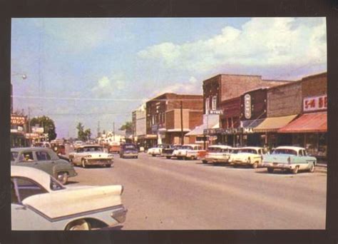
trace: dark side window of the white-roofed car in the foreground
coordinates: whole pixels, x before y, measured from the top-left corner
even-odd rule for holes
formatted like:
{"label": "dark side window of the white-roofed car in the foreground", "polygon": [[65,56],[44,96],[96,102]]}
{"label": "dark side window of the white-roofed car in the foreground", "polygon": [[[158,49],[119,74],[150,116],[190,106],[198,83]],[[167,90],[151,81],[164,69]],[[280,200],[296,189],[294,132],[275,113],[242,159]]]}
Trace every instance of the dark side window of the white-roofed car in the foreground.
{"label": "dark side window of the white-roofed car in the foreground", "polygon": [[19,202],[25,198],[30,197],[31,195],[48,193],[45,188],[28,178],[13,178],[13,182]]}

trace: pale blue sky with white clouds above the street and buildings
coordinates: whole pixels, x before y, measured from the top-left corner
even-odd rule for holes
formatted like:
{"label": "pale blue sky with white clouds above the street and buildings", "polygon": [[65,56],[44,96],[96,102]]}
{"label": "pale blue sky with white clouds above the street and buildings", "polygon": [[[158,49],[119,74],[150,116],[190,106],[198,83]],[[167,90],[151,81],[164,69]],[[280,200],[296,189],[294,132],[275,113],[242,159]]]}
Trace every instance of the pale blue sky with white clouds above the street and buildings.
{"label": "pale blue sky with white clouds above the street and buildings", "polygon": [[[46,115],[58,138],[96,136],[165,92],[202,94],[219,73],[295,81],[327,71],[326,19],[12,19],[14,111]],[[26,79],[22,75],[26,75]]]}

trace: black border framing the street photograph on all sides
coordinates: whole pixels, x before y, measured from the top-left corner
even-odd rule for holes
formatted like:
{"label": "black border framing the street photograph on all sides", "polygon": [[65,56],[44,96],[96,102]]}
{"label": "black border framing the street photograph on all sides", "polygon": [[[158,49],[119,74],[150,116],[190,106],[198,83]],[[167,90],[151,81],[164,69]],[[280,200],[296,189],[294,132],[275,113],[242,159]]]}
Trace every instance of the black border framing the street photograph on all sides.
{"label": "black border framing the street photograph on all sides", "polygon": [[[328,169],[326,230],[11,231],[11,18],[28,17],[327,17]],[[0,243],[338,243],[338,0],[0,0]],[[165,199],[164,199],[165,200]],[[191,210],[191,213],[193,214]],[[221,214],[221,213],[220,213]],[[128,220],[128,216],[127,216]]]}

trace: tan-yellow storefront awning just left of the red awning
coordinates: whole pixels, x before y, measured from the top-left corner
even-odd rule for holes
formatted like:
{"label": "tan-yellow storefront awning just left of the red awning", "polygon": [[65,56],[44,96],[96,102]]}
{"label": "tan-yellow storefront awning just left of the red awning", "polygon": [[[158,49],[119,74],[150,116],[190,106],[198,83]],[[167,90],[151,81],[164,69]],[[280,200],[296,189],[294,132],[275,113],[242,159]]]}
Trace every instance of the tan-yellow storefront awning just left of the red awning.
{"label": "tan-yellow storefront awning just left of the red awning", "polygon": [[253,131],[258,133],[278,131],[280,128],[286,126],[288,123],[293,121],[296,117],[297,114],[291,116],[265,118],[262,123],[253,128]]}

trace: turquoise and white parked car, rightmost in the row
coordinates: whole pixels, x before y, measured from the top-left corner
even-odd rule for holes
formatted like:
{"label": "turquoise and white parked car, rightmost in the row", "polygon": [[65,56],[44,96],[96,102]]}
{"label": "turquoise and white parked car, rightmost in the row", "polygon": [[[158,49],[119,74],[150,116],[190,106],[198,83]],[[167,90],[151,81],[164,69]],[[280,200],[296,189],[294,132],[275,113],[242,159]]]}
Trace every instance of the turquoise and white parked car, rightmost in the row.
{"label": "turquoise and white parked car, rightmost in the row", "polygon": [[273,173],[275,169],[298,173],[298,171],[314,172],[317,158],[307,155],[305,148],[296,146],[279,146],[270,155],[263,156],[263,167]]}

